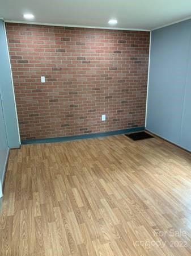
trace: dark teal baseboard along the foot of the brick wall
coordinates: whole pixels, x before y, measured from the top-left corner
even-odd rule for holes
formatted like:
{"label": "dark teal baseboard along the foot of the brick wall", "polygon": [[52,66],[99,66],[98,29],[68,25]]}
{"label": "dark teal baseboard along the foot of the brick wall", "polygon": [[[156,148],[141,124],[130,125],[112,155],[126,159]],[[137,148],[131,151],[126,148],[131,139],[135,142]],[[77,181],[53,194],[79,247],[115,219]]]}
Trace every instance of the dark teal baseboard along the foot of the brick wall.
{"label": "dark teal baseboard along the foot of the brick wall", "polygon": [[124,129],[124,130],[117,130],[117,131],[105,131],[104,133],[91,133],[91,134],[45,138],[45,139],[27,139],[25,141],[21,141],[21,143],[22,144],[37,144],[37,143],[78,141],[79,139],[92,139],[92,138],[99,138],[99,137],[107,137],[107,136],[111,136],[111,135],[134,133],[135,131],[143,131],[143,130],[145,130],[145,126],[134,127],[134,128]]}

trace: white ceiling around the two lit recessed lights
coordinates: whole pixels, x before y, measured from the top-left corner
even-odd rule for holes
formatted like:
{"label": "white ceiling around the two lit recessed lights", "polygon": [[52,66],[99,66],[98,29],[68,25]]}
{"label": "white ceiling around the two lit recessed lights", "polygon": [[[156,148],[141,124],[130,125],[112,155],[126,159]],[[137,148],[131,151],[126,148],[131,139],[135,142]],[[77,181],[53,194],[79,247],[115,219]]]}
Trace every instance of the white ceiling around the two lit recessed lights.
{"label": "white ceiling around the two lit recessed lights", "polygon": [[[0,17],[35,23],[151,30],[191,16],[190,0],[0,0]],[[31,21],[31,20],[30,20]]]}

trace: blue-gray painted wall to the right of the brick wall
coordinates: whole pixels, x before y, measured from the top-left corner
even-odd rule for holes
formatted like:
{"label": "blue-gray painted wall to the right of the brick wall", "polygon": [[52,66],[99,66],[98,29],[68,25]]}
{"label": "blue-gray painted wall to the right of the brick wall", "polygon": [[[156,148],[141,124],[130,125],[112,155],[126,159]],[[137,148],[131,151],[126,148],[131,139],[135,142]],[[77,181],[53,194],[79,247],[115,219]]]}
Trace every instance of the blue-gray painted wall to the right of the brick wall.
{"label": "blue-gray painted wall to the right of the brick wall", "polygon": [[191,20],[152,31],[146,129],[191,151]]}

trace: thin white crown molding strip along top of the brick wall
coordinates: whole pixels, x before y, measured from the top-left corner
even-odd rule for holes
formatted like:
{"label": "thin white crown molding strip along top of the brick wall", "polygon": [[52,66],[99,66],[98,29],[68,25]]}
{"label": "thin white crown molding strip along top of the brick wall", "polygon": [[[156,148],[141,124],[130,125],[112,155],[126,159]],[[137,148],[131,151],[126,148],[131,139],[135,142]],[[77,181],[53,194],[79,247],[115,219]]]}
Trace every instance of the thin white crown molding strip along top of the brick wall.
{"label": "thin white crown molding strip along top of the brick wall", "polygon": [[28,22],[28,21],[9,20],[9,19],[5,19],[4,21],[5,22],[9,22],[9,23],[33,24],[33,25],[56,26],[56,27],[98,28],[98,29],[102,29],[102,30],[151,31],[151,30],[144,30],[142,28],[79,26],[79,25],[70,25],[70,24],[58,24],[58,23],[54,24],[54,23],[43,23],[43,22]]}

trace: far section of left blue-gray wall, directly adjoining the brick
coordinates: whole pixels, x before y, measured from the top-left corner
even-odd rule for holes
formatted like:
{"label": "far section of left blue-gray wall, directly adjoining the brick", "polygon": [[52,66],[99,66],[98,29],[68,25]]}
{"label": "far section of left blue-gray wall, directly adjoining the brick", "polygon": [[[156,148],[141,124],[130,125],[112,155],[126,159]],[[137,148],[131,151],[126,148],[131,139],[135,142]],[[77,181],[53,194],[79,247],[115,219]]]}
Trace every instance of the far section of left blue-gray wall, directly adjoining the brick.
{"label": "far section of left blue-gray wall, directly adjoining the brick", "polygon": [[7,48],[7,39],[3,20],[0,20],[0,51],[0,92],[5,117],[7,141],[10,148],[18,148],[20,146],[18,119],[12,84],[9,51]]}

